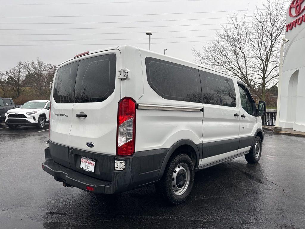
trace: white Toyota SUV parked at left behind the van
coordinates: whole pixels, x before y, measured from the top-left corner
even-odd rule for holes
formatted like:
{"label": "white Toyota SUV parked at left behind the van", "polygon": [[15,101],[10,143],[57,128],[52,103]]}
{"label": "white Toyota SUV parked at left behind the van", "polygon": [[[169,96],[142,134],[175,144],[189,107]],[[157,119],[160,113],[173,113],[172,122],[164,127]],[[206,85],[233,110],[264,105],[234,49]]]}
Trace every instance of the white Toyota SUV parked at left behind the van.
{"label": "white Toyota SUV parked at left behind the van", "polygon": [[21,105],[19,108],[11,109],[5,114],[5,124],[11,129],[19,125],[35,125],[43,129],[45,123],[49,122],[49,100],[32,100]]}

